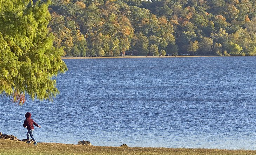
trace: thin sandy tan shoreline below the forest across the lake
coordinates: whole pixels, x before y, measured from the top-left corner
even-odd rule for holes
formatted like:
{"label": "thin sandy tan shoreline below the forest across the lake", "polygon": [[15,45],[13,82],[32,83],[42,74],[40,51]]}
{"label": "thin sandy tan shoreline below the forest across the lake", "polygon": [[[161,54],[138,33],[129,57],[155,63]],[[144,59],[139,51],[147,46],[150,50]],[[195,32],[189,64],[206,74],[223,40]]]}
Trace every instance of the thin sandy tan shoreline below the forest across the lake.
{"label": "thin sandy tan shoreline below the forest across the lake", "polygon": [[94,57],[61,57],[61,59],[120,59],[120,58],[193,58],[193,57],[219,57],[201,55],[177,55],[175,56],[94,56]]}

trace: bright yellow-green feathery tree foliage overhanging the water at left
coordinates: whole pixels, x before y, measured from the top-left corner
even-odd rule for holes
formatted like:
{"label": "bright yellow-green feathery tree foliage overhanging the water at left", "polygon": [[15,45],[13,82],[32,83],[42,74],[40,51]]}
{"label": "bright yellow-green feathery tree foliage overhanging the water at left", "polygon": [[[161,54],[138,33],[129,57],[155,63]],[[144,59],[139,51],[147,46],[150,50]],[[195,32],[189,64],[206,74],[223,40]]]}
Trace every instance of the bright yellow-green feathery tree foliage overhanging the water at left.
{"label": "bright yellow-green feathery tree foliage overhanging the water at left", "polygon": [[52,77],[67,70],[63,49],[53,47],[48,33],[50,1],[0,0],[0,94],[20,104],[52,100],[59,93]]}

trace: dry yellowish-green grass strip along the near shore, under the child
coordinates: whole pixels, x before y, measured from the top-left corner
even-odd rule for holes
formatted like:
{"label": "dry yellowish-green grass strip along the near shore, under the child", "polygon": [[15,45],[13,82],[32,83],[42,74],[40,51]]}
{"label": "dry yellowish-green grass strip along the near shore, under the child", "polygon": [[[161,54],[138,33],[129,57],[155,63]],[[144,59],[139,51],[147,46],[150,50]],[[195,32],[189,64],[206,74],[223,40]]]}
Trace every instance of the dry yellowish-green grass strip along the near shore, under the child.
{"label": "dry yellowish-green grass strip along the near shore, under the child", "polygon": [[78,146],[61,143],[38,143],[0,140],[0,155],[255,155],[253,150],[141,148]]}

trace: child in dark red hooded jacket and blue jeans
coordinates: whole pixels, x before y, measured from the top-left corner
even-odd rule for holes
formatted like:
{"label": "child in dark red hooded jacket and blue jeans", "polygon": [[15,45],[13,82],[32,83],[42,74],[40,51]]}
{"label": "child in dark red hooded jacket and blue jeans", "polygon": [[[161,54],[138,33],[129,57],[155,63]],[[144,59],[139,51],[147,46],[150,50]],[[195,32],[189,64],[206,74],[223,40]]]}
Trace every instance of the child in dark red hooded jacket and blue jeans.
{"label": "child in dark red hooded jacket and blue jeans", "polygon": [[27,128],[28,129],[28,132],[27,132],[27,143],[31,143],[30,142],[30,139],[29,139],[29,135],[31,136],[31,139],[34,141],[34,145],[36,145],[37,143],[36,143],[36,141],[35,141],[35,139],[34,139],[34,137],[33,137],[33,131],[34,131],[34,126],[33,126],[33,124],[35,125],[35,126],[37,126],[37,127],[39,127],[39,128],[41,128],[41,126],[39,126],[36,122],[34,122],[32,119],[31,119],[31,113],[26,113],[25,114],[25,117],[26,117],[26,120],[24,121],[24,123],[23,123],[23,127],[24,128]]}

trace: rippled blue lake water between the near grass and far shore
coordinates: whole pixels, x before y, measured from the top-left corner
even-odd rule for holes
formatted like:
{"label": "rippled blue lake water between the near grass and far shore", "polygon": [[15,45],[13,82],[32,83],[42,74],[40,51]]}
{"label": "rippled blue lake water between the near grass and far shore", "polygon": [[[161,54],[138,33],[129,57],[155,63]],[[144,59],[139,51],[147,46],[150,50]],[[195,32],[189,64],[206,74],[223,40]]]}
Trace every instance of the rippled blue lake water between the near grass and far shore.
{"label": "rippled blue lake water between the near grass and far shore", "polygon": [[0,97],[0,132],[95,146],[256,150],[256,57],[64,60],[53,102]]}

